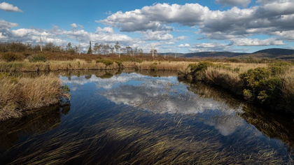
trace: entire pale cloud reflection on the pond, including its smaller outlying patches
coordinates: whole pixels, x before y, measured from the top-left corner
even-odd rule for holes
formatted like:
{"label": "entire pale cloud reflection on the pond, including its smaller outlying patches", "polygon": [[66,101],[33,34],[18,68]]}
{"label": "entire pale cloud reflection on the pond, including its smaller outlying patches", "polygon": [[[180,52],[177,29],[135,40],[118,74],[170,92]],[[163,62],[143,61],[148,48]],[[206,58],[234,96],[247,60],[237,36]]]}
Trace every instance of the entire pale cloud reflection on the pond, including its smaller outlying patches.
{"label": "entire pale cloud reflection on the pond, including its smaller outlying patches", "polygon": [[[136,81],[137,83],[133,83]],[[153,113],[181,113],[181,114],[207,114],[204,124],[215,127],[223,136],[234,133],[244,125],[244,120],[237,117],[242,106],[233,109],[222,101],[204,99],[188,91],[187,86],[179,83],[176,77],[153,78],[137,73],[123,73],[111,78],[90,79],[73,76],[65,80],[71,84],[73,90],[78,85],[94,82],[99,92],[106,99],[116,104],[125,104]]]}

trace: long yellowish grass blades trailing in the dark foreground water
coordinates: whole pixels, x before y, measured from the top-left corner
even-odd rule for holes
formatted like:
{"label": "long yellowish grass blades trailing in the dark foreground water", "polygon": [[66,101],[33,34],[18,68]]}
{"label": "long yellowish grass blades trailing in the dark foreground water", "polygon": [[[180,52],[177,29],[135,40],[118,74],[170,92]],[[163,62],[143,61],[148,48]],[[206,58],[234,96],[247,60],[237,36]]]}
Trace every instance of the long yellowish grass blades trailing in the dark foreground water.
{"label": "long yellowish grass blades trailing in the dark foreground water", "polygon": [[[283,164],[293,162],[279,157],[270,148],[252,146],[251,140],[240,137],[237,145],[226,146],[220,134],[204,127],[188,124],[193,116],[155,117],[142,112],[125,112],[113,117],[102,111],[99,122],[84,125],[80,131],[61,129],[46,136],[33,136],[29,141],[6,152],[25,148],[10,164]],[[102,117],[103,118],[100,118]],[[91,117],[96,118],[94,115]],[[194,116],[195,117],[195,116]],[[89,119],[87,119],[89,120]],[[152,122],[146,122],[152,121]],[[181,122],[183,124],[179,124]],[[74,120],[68,121],[73,124]],[[85,134],[87,132],[87,134]],[[197,134],[193,134],[197,132]],[[251,136],[253,136],[251,134]],[[36,138],[36,139],[35,139]],[[62,139],[62,140],[60,140]],[[73,141],[74,139],[74,141]],[[265,145],[260,143],[260,145]],[[13,153],[13,152],[12,152]]]}

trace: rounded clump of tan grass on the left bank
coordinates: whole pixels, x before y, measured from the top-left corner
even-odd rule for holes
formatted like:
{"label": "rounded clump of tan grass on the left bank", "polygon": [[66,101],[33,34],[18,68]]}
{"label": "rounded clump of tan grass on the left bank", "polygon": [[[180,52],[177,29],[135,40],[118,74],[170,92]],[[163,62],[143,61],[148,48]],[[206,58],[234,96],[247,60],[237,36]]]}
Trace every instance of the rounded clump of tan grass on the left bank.
{"label": "rounded clump of tan grass on the left bank", "polygon": [[61,96],[69,95],[56,76],[21,78],[0,73],[0,121],[59,103]]}

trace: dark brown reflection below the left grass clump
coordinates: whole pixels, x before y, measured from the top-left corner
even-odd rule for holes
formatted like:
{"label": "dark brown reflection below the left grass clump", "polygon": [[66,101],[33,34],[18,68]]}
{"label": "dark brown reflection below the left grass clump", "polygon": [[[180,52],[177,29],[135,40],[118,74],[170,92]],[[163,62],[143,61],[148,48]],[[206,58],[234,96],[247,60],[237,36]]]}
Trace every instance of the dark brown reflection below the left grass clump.
{"label": "dark brown reflection below the left grass clump", "polygon": [[31,111],[20,118],[0,122],[0,148],[8,149],[22,136],[41,134],[55,129],[62,114],[69,113],[70,104],[55,105]]}

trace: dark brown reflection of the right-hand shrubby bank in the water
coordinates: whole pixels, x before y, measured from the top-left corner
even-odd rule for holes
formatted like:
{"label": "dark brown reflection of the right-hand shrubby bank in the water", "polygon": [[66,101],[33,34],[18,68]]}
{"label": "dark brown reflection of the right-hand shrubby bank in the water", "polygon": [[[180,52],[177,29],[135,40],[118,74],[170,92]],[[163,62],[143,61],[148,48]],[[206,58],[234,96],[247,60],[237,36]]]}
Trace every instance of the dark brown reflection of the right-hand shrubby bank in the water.
{"label": "dark brown reflection of the right-hand shrubby bank in the water", "polygon": [[[231,108],[237,109],[242,101],[233,98],[230,94],[225,93],[215,87],[205,85],[203,83],[191,84],[188,89],[195,94],[204,98],[213,98],[216,101],[223,101]],[[293,119],[281,117],[276,114],[267,112],[260,108],[255,108],[251,105],[243,106],[241,112],[237,112],[239,117],[242,117],[246,122],[252,124],[262,134],[269,138],[276,138],[286,143],[288,150],[294,154],[294,122]],[[218,117],[214,122],[224,122],[225,117]],[[230,120],[233,122],[233,120]],[[214,122],[210,123],[214,125]],[[239,122],[238,122],[239,123]],[[233,123],[231,123],[233,124]],[[223,124],[221,124],[223,125]],[[228,125],[228,124],[225,124]],[[229,126],[230,127],[230,126]],[[218,128],[216,128],[218,129]],[[222,130],[222,127],[219,128]],[[227,129],[223,131],[228,131]]]}

